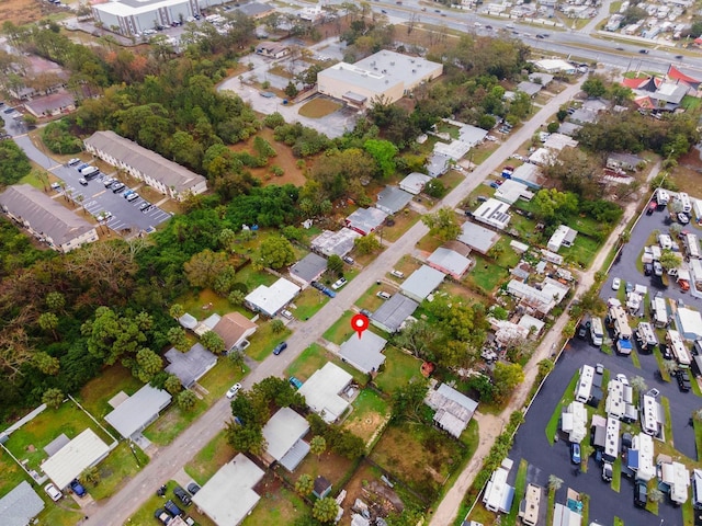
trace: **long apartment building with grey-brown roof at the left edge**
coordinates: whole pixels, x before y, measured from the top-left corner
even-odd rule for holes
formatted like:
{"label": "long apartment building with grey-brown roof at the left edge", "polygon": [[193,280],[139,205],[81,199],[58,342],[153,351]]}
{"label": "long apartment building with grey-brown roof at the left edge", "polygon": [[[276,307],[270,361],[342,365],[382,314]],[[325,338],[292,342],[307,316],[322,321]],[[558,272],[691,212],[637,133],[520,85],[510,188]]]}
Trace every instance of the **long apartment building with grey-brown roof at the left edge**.
{"label": "long apartment building with grey-brown roof at the left edge", "polygon": [[0,194],[0,209],[58,252],[98,241],[94,225],[29,184],[9,186]]}

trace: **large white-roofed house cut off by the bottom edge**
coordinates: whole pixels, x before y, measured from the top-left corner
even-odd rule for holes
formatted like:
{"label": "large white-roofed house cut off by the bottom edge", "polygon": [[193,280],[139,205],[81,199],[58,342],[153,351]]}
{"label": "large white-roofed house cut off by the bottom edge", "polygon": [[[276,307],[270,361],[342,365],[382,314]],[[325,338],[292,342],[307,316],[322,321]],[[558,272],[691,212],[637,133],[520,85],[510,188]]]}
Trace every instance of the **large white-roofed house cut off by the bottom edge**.
{"label": "large white-roofed house cut off by the bottom edge", "polygon": [[261,499],[253,488],[263,474],[261,468],[239,453],[193,495],[193,502],[217,526],[238,526]]}

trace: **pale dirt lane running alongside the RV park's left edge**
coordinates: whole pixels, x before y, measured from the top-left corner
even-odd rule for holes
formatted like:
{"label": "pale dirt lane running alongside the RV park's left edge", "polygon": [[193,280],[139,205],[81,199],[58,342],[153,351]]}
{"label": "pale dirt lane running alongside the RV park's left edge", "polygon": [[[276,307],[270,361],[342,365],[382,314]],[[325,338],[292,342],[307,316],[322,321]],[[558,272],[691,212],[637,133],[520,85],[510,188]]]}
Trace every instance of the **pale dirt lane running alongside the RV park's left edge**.
{"label": "pale dirt lane running alongside the RV park's left edge", "polygon": [[[650,181],[653,178],[655,178],[659,171],[660,163],[657,163],[652,169],[648,180]],[[644,185],[642,192],[647,193],[648,186]],[[620,235],[626,228],[629,221],[636,214],[638,201],[639,199],[633,199],[629,205],[626,205],[626,207],[624,208],[624,215],[622,216],[622,219],[620,221],[620,226],[612,231],[609,239],[592,262],[592,265],[590,265],[590,270],[580,274],[580,278],[578,279],[578,287],[576,288],[574,297],[579,297],[593,285],[595,274],[600,268],[602,268],[604,260],[609,255],[614,244],[618,242]],[[431,522],[429,523],[430,526],[445,526],[453,523],[456,513],[458,512],[458,507],[461,505],[463,496],[471,488],[471,484],[473,484],[473,480],[483,467],[483,461],[490,453],[490,447],[492,447],[495,437],[502,432],[502,425],[507,425],[510,414],[513,411],[523,408],[524,403],[526,403],[526,397],[529,396],[531,386],[534,384],[536,375],[539,373],[539,362],[552,356],[554,353],[561,350],[561,341],[563,339],[561,334],[563,328],[569,319],[570,317],[568,315],[568,311],[566,310],[561,316],[561,318],[556,320],[551,331],[544,336],[541,345],[536,348],[534,355],[524,367],[524,381],[517,388],[517,391],[512,396],[510,403],[507,405],[507,408],[505,408],[500,415],[494,416],[489,414],[478,414],[477,421],[480,437],[478,447],[471,458],[468,465],[465,467],[461,476],[456,479],[456,482],[446,492],[443,501],[437,507]],[[498,427],[499,431],[497,431]]]}

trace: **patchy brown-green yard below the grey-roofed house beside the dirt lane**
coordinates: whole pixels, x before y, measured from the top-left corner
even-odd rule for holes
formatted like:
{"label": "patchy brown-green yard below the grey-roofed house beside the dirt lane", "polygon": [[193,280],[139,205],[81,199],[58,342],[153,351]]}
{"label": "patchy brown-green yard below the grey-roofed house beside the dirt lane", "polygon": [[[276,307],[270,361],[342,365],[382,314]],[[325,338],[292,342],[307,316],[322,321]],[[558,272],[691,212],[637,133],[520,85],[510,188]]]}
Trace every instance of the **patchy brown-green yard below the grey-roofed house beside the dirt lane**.
{"label": "patchy brown-green yard below the grey-roofed house beside the dirt lane", "polygon": [[385,430],[371,459],[431,502],[465,453],[433,426],[403,423]]}

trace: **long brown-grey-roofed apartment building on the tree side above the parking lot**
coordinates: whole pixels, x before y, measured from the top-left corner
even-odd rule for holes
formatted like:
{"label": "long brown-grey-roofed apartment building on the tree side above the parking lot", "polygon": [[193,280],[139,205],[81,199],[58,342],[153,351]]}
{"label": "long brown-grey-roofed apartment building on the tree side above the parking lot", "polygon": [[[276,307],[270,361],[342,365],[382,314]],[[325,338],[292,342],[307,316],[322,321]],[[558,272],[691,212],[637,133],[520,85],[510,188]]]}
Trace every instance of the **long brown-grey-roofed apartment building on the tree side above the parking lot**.
{"label": "long brown-grey-roofed apartment building on the tree side above the parking lot", "polygon": [[174,199],[183,201],[207,190],[207,180],[202,175],[114,132],[95,132],[84,140],[84,145],[93,156]]}

